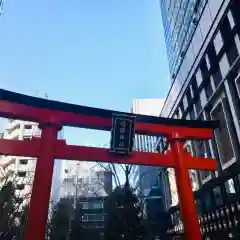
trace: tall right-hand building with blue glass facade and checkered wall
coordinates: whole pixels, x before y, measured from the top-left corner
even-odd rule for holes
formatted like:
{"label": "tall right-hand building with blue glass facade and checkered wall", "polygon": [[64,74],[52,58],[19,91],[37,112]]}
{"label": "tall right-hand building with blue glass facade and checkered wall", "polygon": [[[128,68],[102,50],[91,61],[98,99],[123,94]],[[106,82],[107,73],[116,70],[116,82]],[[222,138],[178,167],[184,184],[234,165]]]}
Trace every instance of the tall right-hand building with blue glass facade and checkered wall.
{"label": "tall right-hand building with blue glass facade and checkered wall", "polygon": [[234,193],[240,172],[240,1],[160,4],[172,76],[161,116],[220,120],[213,140],[186,142],[192,155],[214,157],[218,163],[216,172],[195,172],[193,187],[197,191],[221,177],[225,191]]}

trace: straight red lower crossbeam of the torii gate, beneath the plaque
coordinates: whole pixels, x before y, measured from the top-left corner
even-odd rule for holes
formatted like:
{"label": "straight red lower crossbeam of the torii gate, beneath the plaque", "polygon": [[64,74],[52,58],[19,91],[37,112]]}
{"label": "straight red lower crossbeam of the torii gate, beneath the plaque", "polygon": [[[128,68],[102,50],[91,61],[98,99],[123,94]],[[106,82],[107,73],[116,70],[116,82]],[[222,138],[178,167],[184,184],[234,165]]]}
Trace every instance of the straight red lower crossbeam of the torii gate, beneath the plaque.
{"label": "straight red lower crossbeam of the torii gate, beneath the plaque", "polygon": [[[41,139],[28,141],[0,139],[0,154],[14,156],[38,157]],[[128,163],[137,165],[174,167],[175,162],[171,151],[167,154],[150,152],[133,152],[129,157],[109,153],[106,148],[83,147],[66,145],[64,140],[55,140],[55,159],[79,161],[101,161]],[[189,169],[216,170],[216,161],[210,158],[192,157],[186,153],[186,164]]]}

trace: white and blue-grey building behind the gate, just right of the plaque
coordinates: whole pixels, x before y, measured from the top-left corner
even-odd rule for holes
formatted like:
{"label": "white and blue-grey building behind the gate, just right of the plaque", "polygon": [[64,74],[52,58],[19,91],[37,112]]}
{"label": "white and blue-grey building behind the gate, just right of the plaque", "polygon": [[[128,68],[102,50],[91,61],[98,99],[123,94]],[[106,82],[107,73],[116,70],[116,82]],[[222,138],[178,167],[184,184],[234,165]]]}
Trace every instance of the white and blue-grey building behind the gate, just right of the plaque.
{"label": "white and blue-grey building behind the gate, just right of the plaque", "polygon": [[[150,116],[159,116],[163,99],[134,99],[131,112],[134,114],[143,114]],[[135,150],[143,152],[155,152],[157,138],[155,136],[136,135]],[[137,188],[139,196],[147,196],[151,187],[158,180],[159,167],[152,166],[134,166],[132,169],[132,182]]]}

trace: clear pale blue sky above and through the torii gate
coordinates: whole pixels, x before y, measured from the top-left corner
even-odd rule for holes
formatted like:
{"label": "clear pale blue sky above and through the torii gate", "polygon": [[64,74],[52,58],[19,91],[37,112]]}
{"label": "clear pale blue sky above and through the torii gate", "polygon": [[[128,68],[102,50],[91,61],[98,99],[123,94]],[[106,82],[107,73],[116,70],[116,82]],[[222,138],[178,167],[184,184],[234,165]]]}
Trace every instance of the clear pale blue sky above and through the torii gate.
{"label": "clear pale blue sky above and through the torii gate", "polygon": [[[0,17],[0,86],[128,111],[170,87],[159,0],[11,0]],[[106,134],[65,129],[73,144]],[[101,135],[101,136],[100,136]]]}

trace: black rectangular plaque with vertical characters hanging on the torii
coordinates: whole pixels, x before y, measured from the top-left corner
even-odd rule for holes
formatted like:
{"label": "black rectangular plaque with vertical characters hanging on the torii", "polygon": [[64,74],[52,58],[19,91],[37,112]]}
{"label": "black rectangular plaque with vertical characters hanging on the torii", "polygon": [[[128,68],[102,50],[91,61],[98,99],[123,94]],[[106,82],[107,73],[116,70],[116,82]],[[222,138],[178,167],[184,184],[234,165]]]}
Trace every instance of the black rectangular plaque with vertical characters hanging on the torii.
{"label": "black rectangular plaque with vertical characters hanging on the torii", "polygon": [[135,135],[135,116],[113,114],[110,151],[120,155],[132,152]]}

